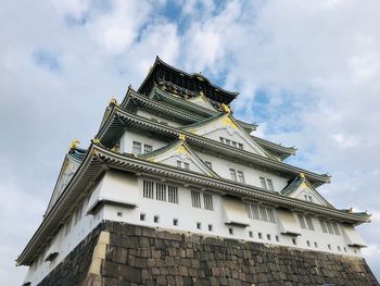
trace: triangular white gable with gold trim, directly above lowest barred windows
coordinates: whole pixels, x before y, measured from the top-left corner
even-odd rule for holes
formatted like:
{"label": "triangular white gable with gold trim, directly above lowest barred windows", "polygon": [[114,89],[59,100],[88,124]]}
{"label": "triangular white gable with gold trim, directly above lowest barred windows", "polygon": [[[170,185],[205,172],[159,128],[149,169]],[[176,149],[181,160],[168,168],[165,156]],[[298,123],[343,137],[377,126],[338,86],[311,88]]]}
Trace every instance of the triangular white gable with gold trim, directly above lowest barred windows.
{"label": "triangular white gable with gold trim, directly above lowest barred windows", "polygon": [[139,156],[139,158],[201,173],[206,176],[219,177],[186,145],[183,135],[180,135],[178,141],[148,154]]}

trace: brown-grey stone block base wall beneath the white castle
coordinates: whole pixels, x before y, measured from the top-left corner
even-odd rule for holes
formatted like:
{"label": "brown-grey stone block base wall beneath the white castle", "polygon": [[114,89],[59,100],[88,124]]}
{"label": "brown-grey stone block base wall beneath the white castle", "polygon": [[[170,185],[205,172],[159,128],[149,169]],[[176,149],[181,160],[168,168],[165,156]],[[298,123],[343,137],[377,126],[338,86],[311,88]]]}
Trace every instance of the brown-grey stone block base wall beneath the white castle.
{"label": "brown-grey stone block base wall beneath the white castle", "polygon": [[359,258],[116,222],[100,224],[40,285],[379,285]]}

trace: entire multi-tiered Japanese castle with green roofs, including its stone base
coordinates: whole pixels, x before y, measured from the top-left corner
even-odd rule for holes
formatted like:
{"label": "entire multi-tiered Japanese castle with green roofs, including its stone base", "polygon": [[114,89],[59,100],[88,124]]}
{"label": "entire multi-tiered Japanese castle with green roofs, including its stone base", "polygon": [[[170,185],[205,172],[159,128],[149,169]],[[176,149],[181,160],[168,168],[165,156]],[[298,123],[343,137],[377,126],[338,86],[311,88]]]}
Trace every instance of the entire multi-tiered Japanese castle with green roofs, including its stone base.
{"label": "entire multi-tiered Japanese castle with green roofs, including its stone base", "polygon": [[330,176],[288,164],[296,149],[255,136],[237,96],[156,58],[71,145],[24,285],[378,285],[370,214],[324,198]]}

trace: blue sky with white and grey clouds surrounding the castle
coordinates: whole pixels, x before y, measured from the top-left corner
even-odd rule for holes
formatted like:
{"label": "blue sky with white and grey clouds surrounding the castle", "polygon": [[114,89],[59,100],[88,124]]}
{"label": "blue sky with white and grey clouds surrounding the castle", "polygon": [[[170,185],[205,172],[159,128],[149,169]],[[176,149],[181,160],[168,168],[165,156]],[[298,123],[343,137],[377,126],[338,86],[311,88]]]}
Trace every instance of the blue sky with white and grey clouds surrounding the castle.
{"label": "blue sky with white and grey clouds surrounding the castle", "polygon": [[111,97],[155,55],[238,90],[235,115],[299,149],[288,160],[332,183],[380,277],[380,2],[61,0],[0,3],[0,285],[41,222],[71,141],[87,147]]}

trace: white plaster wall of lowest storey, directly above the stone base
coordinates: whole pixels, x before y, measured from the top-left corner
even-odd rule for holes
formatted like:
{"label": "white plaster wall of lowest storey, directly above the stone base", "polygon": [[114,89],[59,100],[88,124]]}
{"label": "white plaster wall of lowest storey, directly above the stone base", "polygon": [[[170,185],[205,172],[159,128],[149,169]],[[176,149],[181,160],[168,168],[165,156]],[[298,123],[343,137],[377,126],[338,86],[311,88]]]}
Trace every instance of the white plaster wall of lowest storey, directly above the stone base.
{"label": "white plaster wall of lowest storey, directly above the stone base", "polygon": [[[165,183],[177,186],[178,203],[159,201],[155,199],[155,194],[154,199],[143,198],[143,179],[151,179],[156,183]],[[202,209],[193,208],[191,203],[191,190],[198,190],[201,191],[201,194],[211,194],[213,198],[213,210],[205,210],[203,204]],[[114,198],[114,201],[111,204],[105,203],[101,208],[98,208],[94,214],[86,214],[86,210],[89,209],[91,202],[97,198],[103,199],[104,195],[110,198]],[[121,200],[119,206],[114,204],[117,198]],[[128,200],[128,198],[134,198],[132,201],[137,206],[131,207],[130,204],[125,204],[125,201]],[[249,222],[246,227],[226,225],[226,211],[230,212],[231,210],[228,210],[228,207],[226,207],[226,204],[223,202],[223,197],[218,192],[185,187],[182,184],[175,182],[163,182],[143,176],[136,177],[136,175],[130,173],[107,172],[94,187],[91,198],[86,199],[86,201],[84,201],[81,204],[81,216],[79,217],[78,222],[75,224],[75,219],[73,217],[69,220],[69,222],[67,222],[71,224],[71,231],[67,235],[65,235],[67,223],[61,228],[50,247],[29,268],[25,282],[31,282],[31,285],[36,285],[38,282],[40,282],[102,220],[180,232],[191,232],[205,236],[228,237],[263,244],[290,246],[307,250],[328,251],[331,253],[346,256],[360,256],[359,249],[347,246],[342,227],[339,226],[341,231],[341,235],[339,236],[324,234],[316,217],[313,217],[315,231],[300,228],[301,236],[296,238],[296,245],[294,245],[291,236],[280,234],[278,222],[279,219],[276,215],[276,223],[249,219],[246,212],[241,211],[240,214],[238,214],[241,215],[241,217],[236,219],[238,221]],[[242,202],[241,209],[243,209]],[[145,215],[144,221],[140,220],[140,214]],[[156,223],[153,220],[155,215],[159,215],[159,222]],[[237,215],[237,213],[235,213],[235,215]],[[174,219],[178,220],[177,226],[173,224]],[[201,229],[197,227],[198,223],[201,223]],[[208,225],[212,225],[212,231],[208,231]],[[229,228],[232,228],[232,234],[229,233]],[[252,237],[250,236],[250,232],[253,234]],[[259,234],[262,234],[262,238],[259,238]],[[270,235],[270,239],[268,238],[268,235]],[[276,240],[276,236],[278,237],[278,241]],[[307,246],[307,240],[311,241],[311,246]],[[317,243],[318,247],[314,246],[315,243]],[[328,249],[328,244],[331,245],[331,250]],[[341,247],[341,251],[338,250],[338,246]],[[346,251],[344,251],[344,248]],[[55,258],[55,260],[52,262],[45,262],[45,258],[51,252],[59,252],[58,258]]]}

